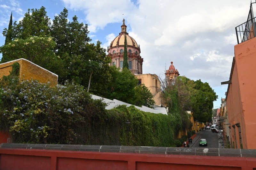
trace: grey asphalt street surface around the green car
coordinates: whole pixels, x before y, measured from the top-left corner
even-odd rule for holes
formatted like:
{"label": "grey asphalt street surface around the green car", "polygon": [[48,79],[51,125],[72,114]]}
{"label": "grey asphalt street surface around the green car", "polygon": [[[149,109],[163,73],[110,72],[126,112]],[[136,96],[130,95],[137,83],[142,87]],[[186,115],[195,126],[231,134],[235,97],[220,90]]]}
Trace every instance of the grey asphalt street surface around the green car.
{"label": "grey asphalt street surface around the green car", "polygon": [[[200,139],[206,139],[207,146],[199,146]],[[191,148],[219,148],[218,133],[212,133],[209,129],[198,132],[192,142],[193,144],[190,144]]]}

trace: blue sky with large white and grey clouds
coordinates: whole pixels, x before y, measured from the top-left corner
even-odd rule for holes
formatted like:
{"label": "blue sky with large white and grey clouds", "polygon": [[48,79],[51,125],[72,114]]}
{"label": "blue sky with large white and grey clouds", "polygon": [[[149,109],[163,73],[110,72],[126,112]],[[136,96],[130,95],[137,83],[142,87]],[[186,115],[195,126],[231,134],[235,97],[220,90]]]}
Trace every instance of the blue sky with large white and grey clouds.
{"label": "blue sky with large white and grey clouds", "polygon": [[[254,1],[254,0],[252,0]],[[164,77],[173,62],[180,76],[207,82],[218,95],[220,107],[230,76],[235,27],[246,22],[250,0],[0,0],[0,32],[12,20],[20,21],[28,9],[45,7],[49,18],[68,9],[68,19],[88,24],[92,42],[107,48],[121,32],[140,44],[143,74]],[[0,35],[0,46],[5,37]],[[1,58],[2,54],[0,54]]]}

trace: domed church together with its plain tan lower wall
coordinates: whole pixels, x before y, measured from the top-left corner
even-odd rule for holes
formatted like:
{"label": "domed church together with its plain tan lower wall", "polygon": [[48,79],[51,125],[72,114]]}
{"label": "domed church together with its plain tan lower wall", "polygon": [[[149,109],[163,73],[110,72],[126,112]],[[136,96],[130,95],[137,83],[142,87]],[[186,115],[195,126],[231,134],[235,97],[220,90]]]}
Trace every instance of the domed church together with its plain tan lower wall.
{"label": "domed church together with its plain tan lower wall", "polygon": [[[110,43],[108,47],[108,56],[111,57],[111,66],[123,68],[124,61],[124,37],[126,36],[127,58],[129,70],[139,80],[139,85],[144,84],[154,96],[155,109],[156,107],[163,106],[164,102],[161,98],[161,85],[160,80],[156,74],[142,74],[143,58],[140,56],[140,45],[129,36],[126,32],[126,25],[123,19],[123,25],[121,26],[121,33]],[[162,108],[159,108],[162,109]],[[165,111],[167,114],[167,112]]]}

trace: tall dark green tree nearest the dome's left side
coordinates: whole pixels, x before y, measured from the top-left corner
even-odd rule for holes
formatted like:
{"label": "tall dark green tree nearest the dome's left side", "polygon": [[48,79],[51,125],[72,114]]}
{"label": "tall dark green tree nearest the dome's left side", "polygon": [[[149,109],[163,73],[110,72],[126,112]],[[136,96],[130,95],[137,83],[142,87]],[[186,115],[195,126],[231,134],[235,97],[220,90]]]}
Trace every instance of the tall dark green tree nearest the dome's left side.
{"label": "tall dark green tree nearest the dome's left side", "polygon": [[[107,57],[106,50],[100,47],[100,41],[96,44],[90,43],[87,24],[79,23],[76,16],[72,18],[72,22],[68,22],[67,17],[68,10],[64,8],[58,16],[54,17],[51,26],[51,35],[57,43],[54,50],[64,63],[59,82],[64,83],[65,80],[69,80],[84,85],[88,90],[90,87],[90,91],[94,93],[97,93],[99,86],[106,90],[106,81],[102,79],[99,81],[102,76],[100,74],[109,70],[110,58]],[[108,80],[107,76],[110,75],[104,76]]]}

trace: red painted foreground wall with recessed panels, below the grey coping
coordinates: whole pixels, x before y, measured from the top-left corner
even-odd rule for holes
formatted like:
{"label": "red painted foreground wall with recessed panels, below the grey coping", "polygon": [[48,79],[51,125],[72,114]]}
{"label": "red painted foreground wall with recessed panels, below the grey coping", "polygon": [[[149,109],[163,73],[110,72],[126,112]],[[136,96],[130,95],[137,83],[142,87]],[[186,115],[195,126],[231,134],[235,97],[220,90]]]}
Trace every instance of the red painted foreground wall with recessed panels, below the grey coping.
{"label": "red painted foreground wall with recessed panels, below the grey coping", "polygon": [[156,170],[253,169],[256,158],[195,155],[0,149],[0,169]]}

